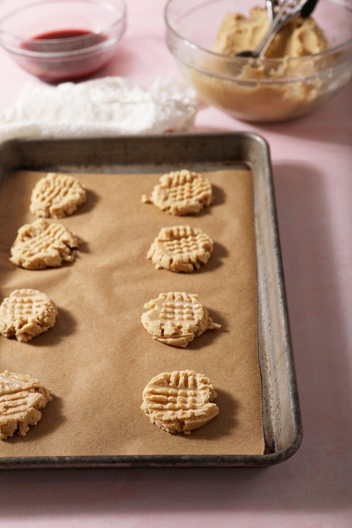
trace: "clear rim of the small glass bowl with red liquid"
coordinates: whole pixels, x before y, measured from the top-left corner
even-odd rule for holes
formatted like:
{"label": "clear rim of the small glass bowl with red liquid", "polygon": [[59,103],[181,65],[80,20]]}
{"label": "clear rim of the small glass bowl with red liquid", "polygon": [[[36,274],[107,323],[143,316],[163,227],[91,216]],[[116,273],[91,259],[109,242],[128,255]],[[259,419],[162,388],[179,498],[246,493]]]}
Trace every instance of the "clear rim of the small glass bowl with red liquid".
{"label": "clear rim of the small glass bowl with red liquid", "polygon": [[[95,5],[97,5],[98,7],[102,8],[104,10],[104,6],[107,6],[107,5],[110,5],[110,6],[113,6],[113,4],[110,3],[110,1],[104,1],[103,3],[99,2],[99,0],[89,0],[87,2],[87,0],[79,0],[80,3],[82,4],[87,4],[87,3],[93,3]],[[125,30],[125,27],[126,27],[126,15],[127,15],[127,7],[126,7],[126,3],[124,0],[113,0],[114,2],[118,2],[119,3],[119,7],[121,8],[121,14],[117,17],[117,19],[112,22],[110,25],[106,26],[106,27],[103,27],[99,32],[95,32],[95,34],[99,35],[99,34],[106,34],[108,32],[110,32],[111,30],[113,30],[115,27],[118,27],[118,26],[121,26],[122,24],[122,31]],[[53,3],[55,2],[58,2],[58,3],[70,3],[70,0],[54,0]],[[37,6],[37,5],[40,5],[40,4],[44,4],[46,3],[45,0],[36,0],[35,2],[32,2],[30,4],[28,4],[27,6],[21,8],[21,7],[17,7],[16,9],[10,11],[9,13],[7,13],[5,16],[3,16],[1,19],[0,19],[0,43],[2,44],[3,48],[6,49],[7,51],[11,52],[11,53],[16,53],[16,54],[19,54],[19,55],[27,55],[27,56],[32,56],[32,57],[52,57],[52,58],[56,58],[56,57],[69,57],[70,55],[79,55],[79,54],[85,54],[85,53],[90,53],[90,52],[93,52],[94,50],[101,50],[103,48],[108,48],[110,45],[118,42],[118,40],[120,39],[117,39],[116,37],[113,37],[112,39],[109,39],[107,41],[103,41],[103,42],[100,42],[99,44],[95,44],[93,46],[90,46],[89,48],[83,48],[83,49],[77,49],[77,50],[73,50],[73,51],[62,51],[62,52],[43,52],[43,51],[31,51],[31,50],[25,50],[25,49],[18,49],[18,48],[14,48],[13,46],[9,46],[8,44],[5,44],[4,41],[3,41],[3,38],[6,37],[8,38],[11,38],[12,40],[14,41],[17,41],[18,43],[26,43],[26,42],[31,42],[31,39],[23,39],[23,37],[21,36],[18,36],[18,35],[14,35],[12,33],[9,33],[8,31],[4,31],[1,29],[1,25],[2,23],[9,17],[13,16],[14,14],[18,13],[19,11],[25,11],[27,8],[30,8],[30,7],[33,7],[33,6]],[[117,6],[113,6],[113,7],[117,7]],[[93,33],[93,32],[92,32]],[[93,33],[94,34],[94,33]],[[84,41],[84,40],[87,40],[89,39],[90,37],[92,36],[92,34],[87,34],[87,35],[77,35],[77,36],[72,36],[72,37],[64,37],[63,39],[40,39],[38,41],[39,45],[40,44],[44,44],[44,45],[47,45],[47,44],[55,44],[55,43],[58,43],[58,42],[81,42],[81,41]],[[119,35],[120,37],[122,36],[121,34]]]}

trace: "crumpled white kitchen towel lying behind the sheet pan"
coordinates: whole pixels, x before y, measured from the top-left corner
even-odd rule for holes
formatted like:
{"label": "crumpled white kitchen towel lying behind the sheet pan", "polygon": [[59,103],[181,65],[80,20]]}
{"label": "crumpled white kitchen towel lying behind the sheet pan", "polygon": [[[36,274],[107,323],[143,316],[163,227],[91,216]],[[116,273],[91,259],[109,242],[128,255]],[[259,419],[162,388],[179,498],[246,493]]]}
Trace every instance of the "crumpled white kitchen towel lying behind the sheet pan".
{"label": "crumpled white kitchen towel lying behind the sheet pan", "polygon": [[194,90],[170,77],[157,77],[149,90],[122,77],[28,84],[0,113],[0,142],[186,131],[196,111]]}

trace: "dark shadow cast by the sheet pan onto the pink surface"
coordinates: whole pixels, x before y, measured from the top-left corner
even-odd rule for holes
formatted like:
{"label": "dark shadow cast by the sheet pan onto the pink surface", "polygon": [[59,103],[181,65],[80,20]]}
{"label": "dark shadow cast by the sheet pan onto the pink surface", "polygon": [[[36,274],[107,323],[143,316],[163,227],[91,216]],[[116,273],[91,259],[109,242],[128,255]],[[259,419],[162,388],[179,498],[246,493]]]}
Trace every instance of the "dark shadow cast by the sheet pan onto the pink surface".
{"label": "dark shadow cast by the sheet pan onto the pink surface", "polygon": [[144,516],[156,513],[338,512],[350,506],[350,319],[341,308],[329,197],[324,178],[305,163],[276,164],[274,175],[304,429],[297,454],[267,469],[6,472],[0,474],[6,482],[0,511],[12,520],[12,506],[18,519],[133,514],[143,526]]}

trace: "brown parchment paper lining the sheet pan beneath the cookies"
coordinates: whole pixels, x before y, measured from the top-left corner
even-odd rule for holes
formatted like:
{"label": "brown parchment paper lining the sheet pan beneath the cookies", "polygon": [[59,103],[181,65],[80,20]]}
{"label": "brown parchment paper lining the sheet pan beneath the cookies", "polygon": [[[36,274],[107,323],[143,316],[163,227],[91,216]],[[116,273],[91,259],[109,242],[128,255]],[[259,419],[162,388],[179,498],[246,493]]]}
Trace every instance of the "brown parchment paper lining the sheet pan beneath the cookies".
{"label": "brown parchment paper lining the sheet pan beneath the cookies", "polygon": [[[207,173],[214,205],[186,218],[140,203],[158,175],[80,173],[87,203],[60,220],[84,240],[77,261],[29,271],[8,261],[9,248],[18,227],[34,220],[28,205],[41,176],[12,173],[0,192],[0,293],[40,289],[59,316],[30,344],[1,338],[0,367],[39,378],[54,398],[26,437],[1,442],[1,456],[262,454],[251,173]],[[145,258],[159,229],[178,223],[215,242],[193,274],[155,270]],[[185,350],[151,340],[140,323],[143,304],[169,290],[198,293],[222,329]],[[220,413],[191,435],[161,431],[139,409],[146,383],[176,369],[206,374],[218,392]]]}

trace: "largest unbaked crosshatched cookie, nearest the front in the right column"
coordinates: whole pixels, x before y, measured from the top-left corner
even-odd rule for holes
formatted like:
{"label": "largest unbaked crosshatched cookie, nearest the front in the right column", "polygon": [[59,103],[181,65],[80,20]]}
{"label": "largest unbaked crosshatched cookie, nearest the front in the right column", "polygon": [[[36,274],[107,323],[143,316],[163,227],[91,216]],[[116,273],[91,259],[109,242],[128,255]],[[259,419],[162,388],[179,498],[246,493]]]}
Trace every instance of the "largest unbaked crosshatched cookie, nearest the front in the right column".
{"label": "largest unbaked crosshatched cookie, nearest the front in the right column", "polygon": [[203,374],[163,372],[144,389],[141,409],[164,431],[187,435],[218,414],[216,403],[211,403],[216,396],[210,379]]}

